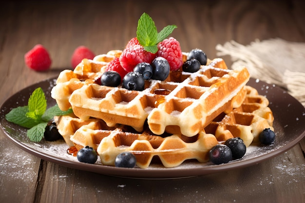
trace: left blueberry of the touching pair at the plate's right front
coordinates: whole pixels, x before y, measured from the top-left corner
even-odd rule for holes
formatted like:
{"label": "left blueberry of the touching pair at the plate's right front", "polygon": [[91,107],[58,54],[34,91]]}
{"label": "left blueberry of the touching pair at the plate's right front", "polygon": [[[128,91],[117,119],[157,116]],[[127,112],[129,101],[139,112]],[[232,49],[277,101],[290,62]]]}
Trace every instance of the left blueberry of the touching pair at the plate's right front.
{"label": "left blueberry of the touching pair at the plate's right front", "polygon": [[209,152],[210,161],[213,164],[225,164],[232,159],[232,152],[230,148],[223,144],[218,144],[212,147]]}

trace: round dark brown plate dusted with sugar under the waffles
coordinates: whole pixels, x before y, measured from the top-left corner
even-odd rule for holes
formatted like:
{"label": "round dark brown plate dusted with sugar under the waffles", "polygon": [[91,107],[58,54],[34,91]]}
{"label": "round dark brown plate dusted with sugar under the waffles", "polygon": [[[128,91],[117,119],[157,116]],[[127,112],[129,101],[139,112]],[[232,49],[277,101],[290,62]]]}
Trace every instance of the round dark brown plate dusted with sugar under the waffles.
{"label": "round dark brown plate dusted with sugar under the waffles", "polygon": [[25,152],[74,169],[129,178],[185,178],[254,165],[286,152],[295,146],[305,135],[304,106],[276,85],[269,85],[259,80],[250,79],[248,85],[255,87],[261,95],[267,96],[270,101],[269,107],[273,111],[275,118],[273,126],[276,140],[270,146],[250,146],[242,159],[222,165],[213,165],[210,162],[198,163],[197,161],[186,161],[175,168],[164,168],[160,165],[152,164],[147,169],[127,169],[103,166],[99,159],[95,164],[80,163],[75,156],[66,152],[68,146],[63,140],[55,142],[45,140],[39,143],[31,142],[26,136],[27,130],[25,128],[10,123],[5,119],[5,114],[12,108],[27,105],[29,96],[37,87],[41,87],[44,90],[48,107],[55,105],[56,101],[51,98],[50,93],[55,82],[56,78],[39,82],[24,88],[8,98],[1,106],[1,130],[14,144]]}

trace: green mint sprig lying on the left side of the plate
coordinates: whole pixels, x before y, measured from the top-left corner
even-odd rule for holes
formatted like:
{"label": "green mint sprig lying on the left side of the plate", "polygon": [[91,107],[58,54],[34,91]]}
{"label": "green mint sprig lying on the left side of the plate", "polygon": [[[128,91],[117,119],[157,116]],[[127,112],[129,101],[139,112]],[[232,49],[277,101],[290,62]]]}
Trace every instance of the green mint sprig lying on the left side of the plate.
{"label": "green mint sprig lying on the left side of the plate", "polygon": [[28,128],[27,136],[33,142],[39,142],[44,134],[48,122],[55,116],[72,113],[72,109],[61,111],[58,105],[47,109],[47,100],[41,87],[31,94],[28,105],[13,108],[5,118],[22,127]]}

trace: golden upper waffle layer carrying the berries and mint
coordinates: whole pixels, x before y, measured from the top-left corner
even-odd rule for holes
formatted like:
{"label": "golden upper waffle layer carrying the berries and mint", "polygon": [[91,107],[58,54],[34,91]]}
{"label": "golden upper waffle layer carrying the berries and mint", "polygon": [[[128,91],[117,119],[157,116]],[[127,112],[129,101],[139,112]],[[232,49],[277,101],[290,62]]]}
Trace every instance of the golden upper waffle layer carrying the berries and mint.
{"label": "golden upper waffle layer carrying the berries and mint", "polygon": [[[129,125],[138,132],[148,119],[149,128],[157,135],[198,134],[218,114],[232,109],[232,98],[249,79],[247,68],[226,69],[222,59],[215,59],[196,73],[172,71],[163,82],[146,81],[145,90],[130,91],[94,83],[104,68],[96,64],[103,63],[107,62],[86,60],[76,69],[82,70],[79,73],[60,75],[64,80],[58,79],[52,90],[59,108],[72,106],[83,120],[99,118],[108,126]],[[98,68],[93,69],[95,65]],[[221,68],[216,68],[218,65]]]}

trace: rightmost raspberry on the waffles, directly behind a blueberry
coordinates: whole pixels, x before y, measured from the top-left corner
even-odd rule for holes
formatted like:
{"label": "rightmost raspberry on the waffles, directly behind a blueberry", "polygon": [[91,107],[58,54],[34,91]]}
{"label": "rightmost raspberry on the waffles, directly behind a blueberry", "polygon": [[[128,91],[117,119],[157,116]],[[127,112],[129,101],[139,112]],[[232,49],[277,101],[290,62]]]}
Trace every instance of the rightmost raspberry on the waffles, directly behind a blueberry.
{"label": "rightmost raspberry on the waffles, directly behind a blueberry", "polygon": [[180,43],[173,37],[158,44],[157,56],[168,60],[171,70],[178,70],[183,65]]}

